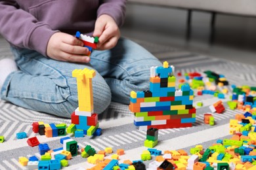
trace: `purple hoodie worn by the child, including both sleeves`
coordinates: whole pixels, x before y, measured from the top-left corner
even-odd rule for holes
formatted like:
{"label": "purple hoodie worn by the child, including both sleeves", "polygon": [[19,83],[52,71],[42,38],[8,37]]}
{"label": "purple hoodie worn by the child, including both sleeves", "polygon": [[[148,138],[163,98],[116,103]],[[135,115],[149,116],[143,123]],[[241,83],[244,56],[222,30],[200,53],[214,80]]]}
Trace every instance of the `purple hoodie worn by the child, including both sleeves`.
{"label": "purple hoodie worn by the child, including both sleeves", "polygon": [[92,34],[95,20],[108,14],[122,25],[126,0],[0,0],[0,34],[12,45],[46,55],[57,31]]}

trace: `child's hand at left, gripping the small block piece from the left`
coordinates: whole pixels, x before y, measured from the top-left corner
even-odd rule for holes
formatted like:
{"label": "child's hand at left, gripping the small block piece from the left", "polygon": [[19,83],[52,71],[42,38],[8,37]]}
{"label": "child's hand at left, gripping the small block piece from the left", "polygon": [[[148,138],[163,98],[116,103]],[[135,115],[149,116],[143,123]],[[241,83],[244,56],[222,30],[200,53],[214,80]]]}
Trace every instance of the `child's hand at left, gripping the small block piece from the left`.
{"label": "child's hand at left, gripping the small block piece from the left", "polygon": [[88,52],[82,41],[67,33],[54,33],[47,44],[47,56],[59,61],[88,63]]}

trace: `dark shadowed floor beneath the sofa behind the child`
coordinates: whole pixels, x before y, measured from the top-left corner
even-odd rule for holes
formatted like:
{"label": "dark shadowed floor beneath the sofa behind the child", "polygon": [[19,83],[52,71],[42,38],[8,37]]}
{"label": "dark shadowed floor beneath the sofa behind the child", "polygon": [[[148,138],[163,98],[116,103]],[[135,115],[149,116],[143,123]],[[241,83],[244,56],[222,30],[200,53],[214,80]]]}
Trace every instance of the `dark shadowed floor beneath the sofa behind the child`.
{"label": "dark shadowed floor beneath the sofa behind the child", "polygon": [[217,14],[213,43],[209,41],[210,18],[209,12],[192,12],[191,38],[187,41],[186,10],[128,4],[121,33],[125,37],[256,65],[256,18]]}

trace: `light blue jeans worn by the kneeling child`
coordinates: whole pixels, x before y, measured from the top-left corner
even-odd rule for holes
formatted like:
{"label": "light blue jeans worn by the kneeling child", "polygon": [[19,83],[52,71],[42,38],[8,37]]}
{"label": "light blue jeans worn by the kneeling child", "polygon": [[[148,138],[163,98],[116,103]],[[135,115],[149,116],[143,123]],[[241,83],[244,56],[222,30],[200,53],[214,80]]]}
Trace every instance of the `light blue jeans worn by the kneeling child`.
{"label": "light blue jeans worn by the kneeling child", "polygon": [[110,101],[129,104],[132,90],[149,89],[150,67],[161,62],[127,39],[111,50],[93,51],[90,63],[68,63],[45,58],[38,52],[11,47],[19,71],[11,73],[1,99],[26,109],[68,117],[78,107],[74,69],[95,69],[94,111],[103,112]]}

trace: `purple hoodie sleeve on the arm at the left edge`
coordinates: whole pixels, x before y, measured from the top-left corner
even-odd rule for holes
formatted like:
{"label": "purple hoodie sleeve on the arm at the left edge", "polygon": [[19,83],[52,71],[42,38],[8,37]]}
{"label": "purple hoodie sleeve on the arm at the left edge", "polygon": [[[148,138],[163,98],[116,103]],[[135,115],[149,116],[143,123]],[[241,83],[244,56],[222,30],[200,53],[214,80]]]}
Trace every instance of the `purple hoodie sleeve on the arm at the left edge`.
{"label": "purple hoodie sleeve on the arm at the left edge", "polygon": [[56,31],[38,22],[29,12],[19,9],[16,1],[0,1],[0,34],[12,45],[28,48],[47,56],[47,43]]}

